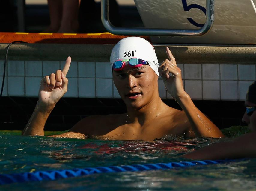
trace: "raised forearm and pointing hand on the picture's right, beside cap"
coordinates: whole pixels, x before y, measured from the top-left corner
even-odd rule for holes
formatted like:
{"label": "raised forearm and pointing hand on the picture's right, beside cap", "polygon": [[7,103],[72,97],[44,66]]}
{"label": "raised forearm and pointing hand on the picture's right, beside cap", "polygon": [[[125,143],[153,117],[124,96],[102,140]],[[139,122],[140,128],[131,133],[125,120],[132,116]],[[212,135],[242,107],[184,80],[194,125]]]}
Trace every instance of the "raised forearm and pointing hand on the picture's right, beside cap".
{"label": "raised forearm and pointing hand on the picture's right, beside cap", "polygon": [[158,68],[166,90],[177,101],[189,119],[192,130],[197,137],[224,137],[222,132],[197,107],[183,88],[181,70],[177,67],[175,58],[166,47],[169,60],[166,59]]}

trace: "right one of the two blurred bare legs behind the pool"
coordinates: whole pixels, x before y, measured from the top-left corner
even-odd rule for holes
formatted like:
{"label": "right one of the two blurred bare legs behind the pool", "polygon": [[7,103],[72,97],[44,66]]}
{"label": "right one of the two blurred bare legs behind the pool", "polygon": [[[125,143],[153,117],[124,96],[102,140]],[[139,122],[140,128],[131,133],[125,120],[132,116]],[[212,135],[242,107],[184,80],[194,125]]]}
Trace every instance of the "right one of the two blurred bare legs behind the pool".
{"label": "right one of the two blurred bare legs behind the pool", "polygon": [[62,19],[58,33],[77,33],[80,0],[62,0]]}

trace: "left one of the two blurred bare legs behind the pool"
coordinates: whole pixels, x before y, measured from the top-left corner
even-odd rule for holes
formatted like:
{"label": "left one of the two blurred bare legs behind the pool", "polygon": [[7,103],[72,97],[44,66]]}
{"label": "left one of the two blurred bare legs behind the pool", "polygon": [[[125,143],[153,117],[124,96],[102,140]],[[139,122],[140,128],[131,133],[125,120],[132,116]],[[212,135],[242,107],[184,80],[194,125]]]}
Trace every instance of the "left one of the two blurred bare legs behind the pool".
{"label": "left one of the two blurred bare legs behind the pool", "polygon": [[48,6],[51,24],[43,32],[56,33],[61,26],[62,0],[48,0]]}

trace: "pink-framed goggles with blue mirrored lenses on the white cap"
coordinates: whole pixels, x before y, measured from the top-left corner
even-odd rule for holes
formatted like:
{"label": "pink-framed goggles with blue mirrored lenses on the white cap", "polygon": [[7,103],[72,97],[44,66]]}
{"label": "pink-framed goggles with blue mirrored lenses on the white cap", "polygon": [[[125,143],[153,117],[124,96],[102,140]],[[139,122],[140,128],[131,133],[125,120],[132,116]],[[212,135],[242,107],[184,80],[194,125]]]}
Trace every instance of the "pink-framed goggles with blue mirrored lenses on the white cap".
{"label": "pink-framed goggles with blue mirrored lenses on the white cap", "polygon": [[130,58],[130,59],[127,59],[127,60],[117,60],[117,61],[115,61],[112,65],[112,69],[115,70],[115,71],[122,70],[124,68],[126,62],[128,62],[129,66],[133,67],[133,68],[137,68],[137,67],[140,67],[142,65],[148,64],[147,61],[141,60],[139,58]]}

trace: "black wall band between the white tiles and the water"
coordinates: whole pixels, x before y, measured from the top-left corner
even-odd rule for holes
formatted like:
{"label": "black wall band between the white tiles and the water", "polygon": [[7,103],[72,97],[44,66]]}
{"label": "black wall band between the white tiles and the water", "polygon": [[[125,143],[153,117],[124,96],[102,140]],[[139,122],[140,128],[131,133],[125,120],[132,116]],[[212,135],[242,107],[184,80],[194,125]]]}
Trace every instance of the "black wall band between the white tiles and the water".
{"label": "black wall band between the white tiles and the water", "polygon": [[[23,130],[38,98],[2,97],[0,100],[0,129]],[[163,100],[168,106],[180,109],[174,100]],[[241,118],[245,112],[243,101],[193,101],[220,129],[233,125],[245,125]],[[121,99],[61,98],[49,116],[45,129],[63,131],[70,129],[88,115],[125,113]]]}

